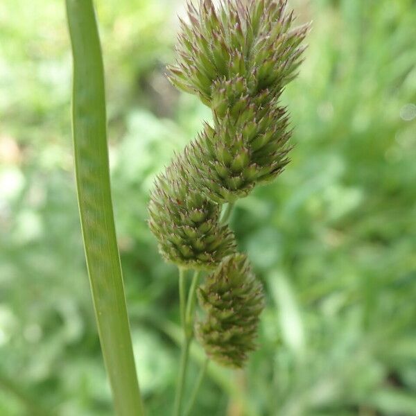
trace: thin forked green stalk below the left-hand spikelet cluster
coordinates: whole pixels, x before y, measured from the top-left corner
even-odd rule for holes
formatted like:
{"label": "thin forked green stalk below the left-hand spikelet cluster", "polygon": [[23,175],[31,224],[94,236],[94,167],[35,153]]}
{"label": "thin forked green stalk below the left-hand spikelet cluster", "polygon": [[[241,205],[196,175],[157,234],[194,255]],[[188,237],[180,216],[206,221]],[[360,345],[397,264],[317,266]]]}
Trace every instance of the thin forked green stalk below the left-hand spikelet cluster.
{"label": "thin forked green stalk below the left-hand spikelet cluster", "polygon": [[[173,408],[173,415],[180,416],[182,410],[182,400],[184,395],[184,386],[187,379],[187,369],[189,361],[189,347],[192,343],[193,338],[193,311],[195,310],[195,297],[196,288],[198,286],[198,280],[200,272],[196,271],[193,273],[191,287],[189,288],[188,300],[185,308],[185,283],[184,283],[184,272],[180,269],[179,273],[179,295],[180,295],[180,311],[181,311],[181,323],[183,329],[183,342],[182,342],[182,354],[180,358],[180,370],[177,379],[176,395],[175,395],[175,406]],[[182,283],[181,283],[182,282]]]}

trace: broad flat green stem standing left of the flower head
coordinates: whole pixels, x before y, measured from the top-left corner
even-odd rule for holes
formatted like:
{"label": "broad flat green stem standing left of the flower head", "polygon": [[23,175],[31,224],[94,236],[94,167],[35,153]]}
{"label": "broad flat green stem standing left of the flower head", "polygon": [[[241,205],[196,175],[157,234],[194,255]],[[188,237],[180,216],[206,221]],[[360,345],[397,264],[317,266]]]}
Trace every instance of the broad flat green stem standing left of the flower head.
{"label": "broad flat green stem standing left of the flower head", "polygon": [[114,407],[141,416],[110,193],[103,58],[92,0],[66,0],[73,53],[72,129],[85,257]]}

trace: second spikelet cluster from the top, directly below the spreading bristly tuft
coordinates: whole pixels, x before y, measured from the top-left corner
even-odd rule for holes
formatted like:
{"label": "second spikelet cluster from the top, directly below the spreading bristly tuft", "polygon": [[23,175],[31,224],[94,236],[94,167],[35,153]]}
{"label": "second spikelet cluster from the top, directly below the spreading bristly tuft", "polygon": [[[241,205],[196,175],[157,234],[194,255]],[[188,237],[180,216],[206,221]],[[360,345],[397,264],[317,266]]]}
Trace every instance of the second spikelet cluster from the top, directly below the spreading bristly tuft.
{"label": "second spikelet cluster from the top, directly below the spreading bristly tuft", "polygon": [[206,124],[185,153],[193,186],[218,203],[247,196],[256,184],[274,179],[288,163],[288,115],[279,95],[264,89],[250,96],[243,78],[216,81],[214,128]]}

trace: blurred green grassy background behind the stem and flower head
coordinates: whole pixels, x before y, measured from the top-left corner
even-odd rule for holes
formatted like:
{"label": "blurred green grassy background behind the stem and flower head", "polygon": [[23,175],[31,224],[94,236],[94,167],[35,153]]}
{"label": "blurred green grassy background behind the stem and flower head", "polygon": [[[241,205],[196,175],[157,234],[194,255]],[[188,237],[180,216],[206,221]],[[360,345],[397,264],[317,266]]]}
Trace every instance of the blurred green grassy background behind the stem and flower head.
{"label": "blurred green grassy background behind the stem and flower head", "polygon": [[[416,1],[293,0],[313,19],[284,94],[293,162],[232,227],[267,291],[245,372],[195,415],[416,415]],[[173,403],[177,270],[153,177],[209,109],[164,78],[182,0],[97,0],[116,227],[148,415]],[[0,415],[112,415],[73,179],[63,1],[0,2]],[[191,383],[202,361],[193,350]]]}

